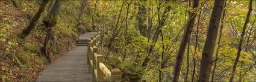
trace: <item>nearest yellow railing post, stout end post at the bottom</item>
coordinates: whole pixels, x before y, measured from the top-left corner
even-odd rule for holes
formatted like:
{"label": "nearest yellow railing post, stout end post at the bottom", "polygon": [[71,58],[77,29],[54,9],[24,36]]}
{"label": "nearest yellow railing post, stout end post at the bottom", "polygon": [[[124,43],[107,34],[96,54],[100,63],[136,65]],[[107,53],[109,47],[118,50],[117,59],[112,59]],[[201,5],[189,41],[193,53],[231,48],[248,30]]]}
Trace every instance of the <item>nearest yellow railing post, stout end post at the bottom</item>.
{"label": "nearest yellow railing post, stout end post at the bottom", "polygon": [[111,69],[110,81],[122,81],[122,72],[119,69]]}

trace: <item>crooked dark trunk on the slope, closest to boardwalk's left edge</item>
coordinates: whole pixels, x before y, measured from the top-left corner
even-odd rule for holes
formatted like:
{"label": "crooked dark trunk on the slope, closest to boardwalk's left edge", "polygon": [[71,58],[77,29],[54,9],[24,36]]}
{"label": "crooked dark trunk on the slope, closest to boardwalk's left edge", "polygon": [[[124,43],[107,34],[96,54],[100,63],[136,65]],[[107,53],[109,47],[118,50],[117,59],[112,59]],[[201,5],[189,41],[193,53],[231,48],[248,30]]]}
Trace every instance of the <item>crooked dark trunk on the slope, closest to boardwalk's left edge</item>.
{"label": "crooked dark trunk on the slope, closest to boardwalk's left edge", "polygon": [[51,29],[57,24],[57,16],[58,12],[61,8],[61,0],[56,0],[54,6],[52,7],[52,10],[46,16],[46,18],[43,20],[43,23],[45,24],[45,28],[48,29],[47,35],[45,37],[45,42],[43,43],[43,53],[45,53],[45,56],[48,57],[49,62],[51,62],[51,57],[49,55],[48,51],[48,42],[49,37],[51,37]]}

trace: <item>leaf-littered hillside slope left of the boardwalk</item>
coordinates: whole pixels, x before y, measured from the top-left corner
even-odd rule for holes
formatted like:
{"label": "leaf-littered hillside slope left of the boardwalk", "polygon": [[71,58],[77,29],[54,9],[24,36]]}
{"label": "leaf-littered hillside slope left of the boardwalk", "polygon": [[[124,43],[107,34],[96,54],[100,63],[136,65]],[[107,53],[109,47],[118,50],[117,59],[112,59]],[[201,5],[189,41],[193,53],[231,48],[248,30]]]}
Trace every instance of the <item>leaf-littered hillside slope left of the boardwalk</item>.
{"label": "leaf-littered hillside slope left of the boardwalk", "polygon": [[[39,2],[23,2],[22,7],[14,7],[10,1],[0,1],[0,5],[0,81],[35,81],[40,71],[49,64],[41,51],[46,34],[40,21],[46,14],[42,15],[40,23],[31,34],[21,39],[19,36],[22,29],[32,19],[34,11],[40,5]],[[61,25],[70,21],[62,21],[56,29],[63,28]],[[65,31],[66,34],[59,35],[60,32],[54,30],[55,35],[52,40],[57,42],[50,43],[50,45],[55,45],[55,47],[50,47],[52,61],[76,47],[75,42],[78,40],[79,34],[73,32],[72,29],[60,31]]]}

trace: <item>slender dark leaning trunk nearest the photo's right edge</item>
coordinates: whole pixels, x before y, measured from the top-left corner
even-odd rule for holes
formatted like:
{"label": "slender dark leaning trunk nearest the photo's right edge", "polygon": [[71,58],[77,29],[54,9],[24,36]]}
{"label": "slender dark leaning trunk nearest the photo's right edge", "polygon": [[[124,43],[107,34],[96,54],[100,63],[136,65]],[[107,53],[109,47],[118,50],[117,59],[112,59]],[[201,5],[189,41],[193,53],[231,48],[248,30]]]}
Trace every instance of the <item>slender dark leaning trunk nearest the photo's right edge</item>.
{"label": "slender dark leaning trunk nearest the photo's right edge", "polygon": [[232,82],[233,79],[234,79],[234,74],[236,72],[237,62],[239,62],[240,53],[242,51],[243,37],[245,36],[245,30],[246,30],[247,24],[249,23],[249,19],[250,19],[250,16],[251,16],[251,11],[252,11],[252,0],[249,3],[249,10],[248,10],[248,13],[247,13],[247,16],[246,16],[245,25],[243,25],[243,31],[242,31],[242,34],[241,34],[241,37],[240,37],[239,47],[237,49],[236,60],[234,62],[231,77],[229,79],[230,82]]}

